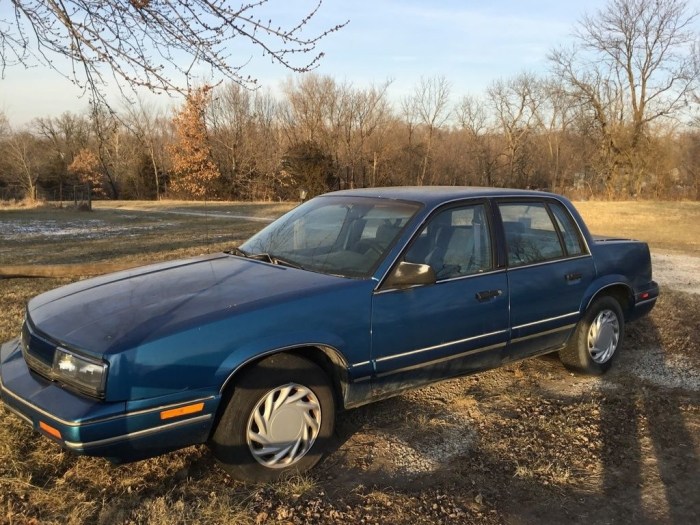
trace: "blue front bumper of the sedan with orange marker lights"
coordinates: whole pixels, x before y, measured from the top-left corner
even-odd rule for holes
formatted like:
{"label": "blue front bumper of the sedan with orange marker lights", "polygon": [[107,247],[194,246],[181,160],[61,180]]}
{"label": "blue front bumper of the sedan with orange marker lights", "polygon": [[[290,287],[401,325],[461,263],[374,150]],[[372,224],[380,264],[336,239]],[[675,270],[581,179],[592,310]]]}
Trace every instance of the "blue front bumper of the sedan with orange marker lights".
{"label": "blue front bumper of the sedan with orange marker lights", "polygon": [[203,391],[137,402],[90,399],[31,372],[19,339],[0,347],[0,398],[10,411],[62,447],[114,462],[205,442],[220,400]]}

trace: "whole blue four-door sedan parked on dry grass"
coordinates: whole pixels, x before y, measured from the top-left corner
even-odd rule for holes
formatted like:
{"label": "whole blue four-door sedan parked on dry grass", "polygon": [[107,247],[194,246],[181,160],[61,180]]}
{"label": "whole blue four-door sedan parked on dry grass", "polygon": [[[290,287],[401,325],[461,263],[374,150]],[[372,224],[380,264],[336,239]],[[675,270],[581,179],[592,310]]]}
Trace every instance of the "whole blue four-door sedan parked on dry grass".
{"label": "whole blue four-door sedan parked on dry grass", "polygon": [[603,373],[657,296],[647,245],[555,194],[341,191],[230,252],[35,297],[0,395],[76,453],[208,443],[266,481],[316,464],[340,409],[549,352]]}

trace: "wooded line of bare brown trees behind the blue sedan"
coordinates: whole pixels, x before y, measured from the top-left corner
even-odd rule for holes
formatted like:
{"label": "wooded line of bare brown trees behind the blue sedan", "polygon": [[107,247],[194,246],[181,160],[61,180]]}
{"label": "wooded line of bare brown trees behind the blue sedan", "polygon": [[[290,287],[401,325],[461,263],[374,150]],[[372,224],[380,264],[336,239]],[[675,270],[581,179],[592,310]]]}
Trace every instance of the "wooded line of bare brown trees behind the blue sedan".
{"label": "wooded line of bare brown trees behind the blue sedan", "polygon": [[293,200],[445,184],[700,199],[696,16],[678,0],[611,0],[550,52],[548,75],[478,95],[425,77],[396,101],[391,81],[306,74],[276,96],[203,86],[170,112],[94,104],[22,130],[0,114],[0,197],[89,183],[104,198]]}

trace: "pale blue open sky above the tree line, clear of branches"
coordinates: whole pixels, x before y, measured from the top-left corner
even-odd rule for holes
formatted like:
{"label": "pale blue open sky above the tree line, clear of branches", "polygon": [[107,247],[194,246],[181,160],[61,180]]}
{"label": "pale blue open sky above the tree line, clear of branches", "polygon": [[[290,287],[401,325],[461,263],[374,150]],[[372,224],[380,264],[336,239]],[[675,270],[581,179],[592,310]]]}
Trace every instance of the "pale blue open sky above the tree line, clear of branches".
{"label": "pale blue open sky above the tree line, clear of branches", "polygon": [[[8,17],[8,4],[0,3],[0,21]],[[323,0],[311,32],[349,23],[319,44],[325,56],[316,73],[356,87],[390,79],[388,93],[394,101],[411,93],[421,76],[444,76],[454,100],[479,95],[495,80],[546,72],[547,52],[571,42],[583,14],[594,14],[605,4],[605,0]],[[263,14],[289,26],[314,5],[313,0],[269,0]],[[239,52],[241,62],[249,61],[244,73],[273,93],[292,75],[258,56],[252,47]],[[111,100],[118,106],[114,92]],[[46,67],[15,66],[0,78],[0,111],[19,128],[36,117],[85,110],[87,97],[81,94]],[[177,104],[167,95],[147,99],[163,107]]]}

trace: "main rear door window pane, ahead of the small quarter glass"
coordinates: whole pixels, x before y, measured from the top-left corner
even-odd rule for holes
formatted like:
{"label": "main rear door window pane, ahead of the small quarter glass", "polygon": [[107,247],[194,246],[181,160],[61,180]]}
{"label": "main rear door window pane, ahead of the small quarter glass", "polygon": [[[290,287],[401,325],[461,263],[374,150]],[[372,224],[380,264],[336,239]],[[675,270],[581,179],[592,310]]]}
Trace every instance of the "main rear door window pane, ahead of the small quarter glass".
{"label": "main rear door window pane, ahead of the small quarter glass", "polygon": [[503,220],[509,266],[564,256],[556,227],[544,203],[501,203],[498,208]]}

